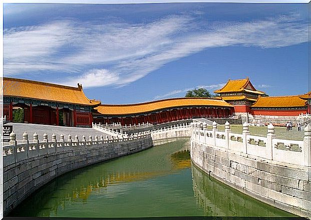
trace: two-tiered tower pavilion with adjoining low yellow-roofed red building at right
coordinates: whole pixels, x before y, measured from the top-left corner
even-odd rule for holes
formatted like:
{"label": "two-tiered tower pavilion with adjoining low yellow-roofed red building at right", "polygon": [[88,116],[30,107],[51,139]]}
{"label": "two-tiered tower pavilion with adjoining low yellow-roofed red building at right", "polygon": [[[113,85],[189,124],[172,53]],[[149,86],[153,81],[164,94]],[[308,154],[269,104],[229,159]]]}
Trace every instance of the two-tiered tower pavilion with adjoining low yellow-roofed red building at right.
{"label": "two-tiered tower pavilion with adjoining low yellow-roofed red building at right", "polygon": [[[227,84],[214,93],[234,106],[234,113],[249,113],[252,115],[269,116],[298,116],[310,113],[310,93],[294,96],[267,96],[258,91],[249,81],[249,78],[228,80]],[[310,103],[310,102],[309,102]]]}

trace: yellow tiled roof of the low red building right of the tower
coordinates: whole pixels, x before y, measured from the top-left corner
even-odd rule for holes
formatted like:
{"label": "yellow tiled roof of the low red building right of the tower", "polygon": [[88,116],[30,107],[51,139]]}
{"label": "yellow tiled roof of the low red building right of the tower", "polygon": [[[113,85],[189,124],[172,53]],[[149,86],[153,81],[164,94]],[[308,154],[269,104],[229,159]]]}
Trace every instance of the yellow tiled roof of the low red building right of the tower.
{"label": "yellow tiled roof of the low red building right of the tower", "polygon": [[303,107],[305,101],[299,96],[259,97],[251,107]]}

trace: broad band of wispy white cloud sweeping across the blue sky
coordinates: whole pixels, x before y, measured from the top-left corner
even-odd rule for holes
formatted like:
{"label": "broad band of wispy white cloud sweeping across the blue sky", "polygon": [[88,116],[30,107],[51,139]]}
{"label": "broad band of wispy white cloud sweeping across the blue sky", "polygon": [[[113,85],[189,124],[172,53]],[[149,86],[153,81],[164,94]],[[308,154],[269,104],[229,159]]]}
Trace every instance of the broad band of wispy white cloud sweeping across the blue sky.
{"label": "broad band of wispy white cloud sweeping across the blue sky", "polygon": [[221,24],[189,16],[144,24],[60,20],[5,30],[4,74],[55,71],[63,72],[70,85],[124,86],[208,48],[278,48],[303,42],[307,22],[297,15]]}

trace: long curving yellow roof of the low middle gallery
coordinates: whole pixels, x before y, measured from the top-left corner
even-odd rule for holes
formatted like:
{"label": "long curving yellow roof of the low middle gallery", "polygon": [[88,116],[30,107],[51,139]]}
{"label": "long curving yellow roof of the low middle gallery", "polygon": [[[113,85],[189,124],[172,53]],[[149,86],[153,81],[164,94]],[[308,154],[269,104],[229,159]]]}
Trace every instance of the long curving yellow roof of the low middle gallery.
{"label": "long curving yellow roof of the low middle gallery", "polygon": [[232,107],[220,98],[174,98],[130,105],[100,105],[95,109],[104,115],[130,115],[182,106]]}

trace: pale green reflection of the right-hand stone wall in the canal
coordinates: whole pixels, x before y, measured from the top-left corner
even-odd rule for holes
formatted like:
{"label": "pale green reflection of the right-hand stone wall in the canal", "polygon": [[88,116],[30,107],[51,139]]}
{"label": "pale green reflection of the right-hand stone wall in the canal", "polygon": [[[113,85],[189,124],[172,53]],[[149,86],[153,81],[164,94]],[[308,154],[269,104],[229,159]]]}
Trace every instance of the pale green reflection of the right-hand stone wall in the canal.
{"label": "pale green reflection of the right-hand stone wall in the canal", "polygon": [[192,165],[193,192],[205,215],[295,216],[226,186]]}

